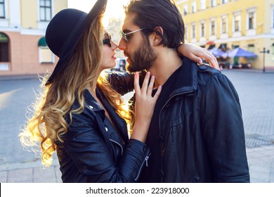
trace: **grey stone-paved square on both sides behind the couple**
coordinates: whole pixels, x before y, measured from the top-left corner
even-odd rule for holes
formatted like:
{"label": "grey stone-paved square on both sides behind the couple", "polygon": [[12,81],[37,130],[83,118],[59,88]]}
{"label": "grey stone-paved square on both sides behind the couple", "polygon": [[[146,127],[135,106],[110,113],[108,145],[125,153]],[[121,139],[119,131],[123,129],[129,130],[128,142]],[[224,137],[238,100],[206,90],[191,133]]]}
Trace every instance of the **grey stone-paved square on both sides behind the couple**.
{"label": "grey stone-paved square on both sides behind the couple", "polygon": [[[240,96],[251,182],[274,183],[274,72],[223,70]],[[41,169],[18,139],[27,106],[39,87],[36,77],[0,76],[0,182],[61,182],[56,155]]]}

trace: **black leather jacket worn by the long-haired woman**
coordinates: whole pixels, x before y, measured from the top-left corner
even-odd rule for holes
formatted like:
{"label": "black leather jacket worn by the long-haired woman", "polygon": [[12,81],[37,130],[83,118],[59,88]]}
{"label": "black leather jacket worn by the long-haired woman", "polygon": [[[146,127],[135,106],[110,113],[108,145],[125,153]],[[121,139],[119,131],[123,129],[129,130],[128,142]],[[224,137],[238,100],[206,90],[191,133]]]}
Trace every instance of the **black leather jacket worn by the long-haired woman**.
{"label": "black leather jacket worn by the long-haired woman", "polygon": [[[149,148],[130,139],[126,122],[107,103],[98,89],[98,98],[112,117],[116,129],[108,122],[103,108],[84,91],[85,107],[72,115],[72,124],[56,141],[63,182],[136,182],[148,160]],[[72,109],[78,108],[74,102]],[[67,117],[67,122],[70,122]]]}

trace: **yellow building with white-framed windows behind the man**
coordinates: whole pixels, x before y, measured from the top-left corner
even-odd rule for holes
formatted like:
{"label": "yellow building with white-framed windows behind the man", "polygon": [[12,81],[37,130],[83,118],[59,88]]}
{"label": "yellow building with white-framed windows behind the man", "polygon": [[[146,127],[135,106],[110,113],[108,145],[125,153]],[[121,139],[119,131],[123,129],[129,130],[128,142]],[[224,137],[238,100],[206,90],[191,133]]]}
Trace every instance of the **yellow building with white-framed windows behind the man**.
{"label": "yellow building with white-framed windows behind the man", "polygon": [[[177,0],[185,41],[230,51],[240,46],[255,53],[252,68],[274,68],[274,0]],[[269,53],[261,53],[261,51]],[[265,58],[263,56],[265,55]],[[234,63],[234,59],[227,59]],[[265,64],[264,64],[265,61]]]}

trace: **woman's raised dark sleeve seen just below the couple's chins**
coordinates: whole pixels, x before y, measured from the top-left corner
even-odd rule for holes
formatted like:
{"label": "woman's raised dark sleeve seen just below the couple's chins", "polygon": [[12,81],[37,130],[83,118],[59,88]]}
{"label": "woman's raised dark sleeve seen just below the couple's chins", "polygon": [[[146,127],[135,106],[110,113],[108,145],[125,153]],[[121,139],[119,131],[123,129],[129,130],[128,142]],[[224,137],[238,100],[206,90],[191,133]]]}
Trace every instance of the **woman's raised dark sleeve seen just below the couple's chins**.
{"label": "woman's raised dark sleeve seen just below the couple's chins", "polygon": [[[143,71],[140,74],[140,86],[143,84],[145,73],[146,72]],[[107,80],[110,82],[112,88],[115,89],[121,95],[129,93],[134,89],[134,74],[131,74],[129,72],[112,72],[107,76]]]}

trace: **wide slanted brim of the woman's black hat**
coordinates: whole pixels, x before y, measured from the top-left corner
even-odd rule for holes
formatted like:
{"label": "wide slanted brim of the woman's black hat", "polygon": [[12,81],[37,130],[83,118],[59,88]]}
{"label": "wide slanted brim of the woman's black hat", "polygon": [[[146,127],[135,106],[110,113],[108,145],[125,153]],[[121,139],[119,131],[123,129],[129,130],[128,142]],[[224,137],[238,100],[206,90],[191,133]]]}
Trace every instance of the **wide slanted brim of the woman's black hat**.
{"label": "wide slanted brim of the woman's black hat", "polygon": [[[81,35],[84,33],[89,25],[93,22],[93,20],[99,15],[105,12],[105,6],[107,4],[107,0],[98,0],[96,4],[94,4],[91,11],[84,17],[81,24],[74,30],[74,32],[70,36],[70,42],[66,43],[64,47],[64,51],[62,55],[59,57],[58,63],[56,63],[56,67],[54,68],[51,76],[48,78],[46,85],[51,84],[53,79],[65,68],[66,63],[70,60],[72,52],[77,46]],[[73,41],[73,42],[72,42]]]}

